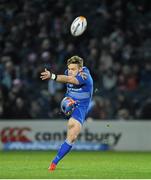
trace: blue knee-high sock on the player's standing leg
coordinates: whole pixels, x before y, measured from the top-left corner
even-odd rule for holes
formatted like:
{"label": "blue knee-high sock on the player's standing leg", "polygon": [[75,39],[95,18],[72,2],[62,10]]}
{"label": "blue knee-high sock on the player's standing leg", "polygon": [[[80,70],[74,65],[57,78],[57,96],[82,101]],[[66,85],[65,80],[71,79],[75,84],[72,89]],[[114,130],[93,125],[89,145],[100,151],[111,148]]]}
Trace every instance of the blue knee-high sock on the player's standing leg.
{"label": "blue knee-high sock on the player's standing leg", "polygon": [[58,162],[71,150],[71,148],[72,148],[72,144],[66,140],[61,145],[56,157],[54,158],[54,160],[52,162],[55,164],[58,164]]}

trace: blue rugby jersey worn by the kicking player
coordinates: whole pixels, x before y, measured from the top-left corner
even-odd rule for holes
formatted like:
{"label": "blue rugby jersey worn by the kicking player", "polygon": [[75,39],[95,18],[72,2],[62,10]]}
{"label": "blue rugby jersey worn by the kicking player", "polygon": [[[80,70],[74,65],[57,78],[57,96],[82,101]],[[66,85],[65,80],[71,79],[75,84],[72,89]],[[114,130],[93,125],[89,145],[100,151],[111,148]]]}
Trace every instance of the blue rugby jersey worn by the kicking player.
{"label": "blue rugby jersey worn by the kicking player", "polygon": [[[68,70],[65,71],[68,75]],[[93,79],[87,67],[83,67],[75,78],[79,81],[78,85],[67,83],[67,97],[76,100],[80,105],[89,106],[93,94]]]}

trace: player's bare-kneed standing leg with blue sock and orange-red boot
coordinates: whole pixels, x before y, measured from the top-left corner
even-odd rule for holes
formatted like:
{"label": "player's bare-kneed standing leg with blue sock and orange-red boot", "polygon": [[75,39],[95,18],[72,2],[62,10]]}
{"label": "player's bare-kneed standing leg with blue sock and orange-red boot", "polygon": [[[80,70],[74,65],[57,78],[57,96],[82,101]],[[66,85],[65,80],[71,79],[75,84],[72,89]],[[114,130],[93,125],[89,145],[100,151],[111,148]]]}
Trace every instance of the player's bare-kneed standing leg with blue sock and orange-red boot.
{"label": "player's bare-kneed standing leg with blue sock and orange-red boot", "polygon": [[49,170],[54,170],[56,168],[56,165],[58,162],[67,154],[70,152],[73,143],[76,141],[80,131],[81,131],[82,125],[79,121],[75,120],[74,118],[70,118],[68,121],[68,129],[67,129],[67,139],[65,142],[61,145],[56,157],[52,161]]}

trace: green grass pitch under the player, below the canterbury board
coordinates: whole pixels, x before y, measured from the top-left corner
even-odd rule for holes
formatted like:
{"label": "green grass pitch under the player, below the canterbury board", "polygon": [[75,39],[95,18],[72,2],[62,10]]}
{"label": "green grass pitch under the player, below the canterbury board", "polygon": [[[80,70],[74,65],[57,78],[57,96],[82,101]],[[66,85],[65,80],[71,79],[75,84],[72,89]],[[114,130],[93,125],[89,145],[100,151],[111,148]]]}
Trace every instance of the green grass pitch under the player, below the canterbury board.
{"label": "green grass pitch under the player, below the canterbury board", "polygon": [[49,162],[56,152],[0,152],[0,178],[97,179],[151,178],[151,153],[72,151],[54,172]]}

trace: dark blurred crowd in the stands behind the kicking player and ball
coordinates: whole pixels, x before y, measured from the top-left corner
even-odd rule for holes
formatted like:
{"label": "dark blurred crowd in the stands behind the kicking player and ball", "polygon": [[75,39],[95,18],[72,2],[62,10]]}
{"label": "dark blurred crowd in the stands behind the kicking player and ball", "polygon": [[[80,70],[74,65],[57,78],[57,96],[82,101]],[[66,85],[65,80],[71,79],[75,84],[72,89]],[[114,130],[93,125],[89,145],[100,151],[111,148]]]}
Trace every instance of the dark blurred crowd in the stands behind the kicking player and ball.
{"label": "dark blurred crowd in the stands behind the kicking player and ball", "polygon": [[[73,37],[79,15],[88,27]],[[62,118],[65,85],[40,72],[79,55],[94,79],[89,119],[151,120],[150,34],[150,0],[1,0],[0,119]]]}

